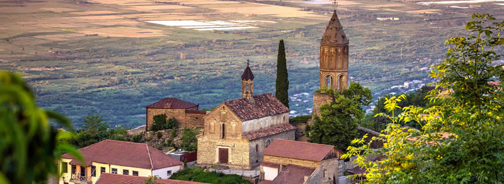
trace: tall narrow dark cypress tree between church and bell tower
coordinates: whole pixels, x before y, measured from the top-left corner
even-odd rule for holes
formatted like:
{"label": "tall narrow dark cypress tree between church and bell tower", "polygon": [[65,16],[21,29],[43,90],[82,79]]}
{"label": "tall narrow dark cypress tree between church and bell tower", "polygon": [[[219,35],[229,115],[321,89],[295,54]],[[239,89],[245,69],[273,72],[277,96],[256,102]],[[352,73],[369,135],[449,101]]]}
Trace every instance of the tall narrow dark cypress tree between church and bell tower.
{"label": "tall narrow dark cypress tree between church and bell tower", "polygon": [[278,44],[278,58],[277,58],[277,90],[275,97],[289,108],[289,74],[287,73],[287,60],[285,59],[285,47],[283,40]]}

